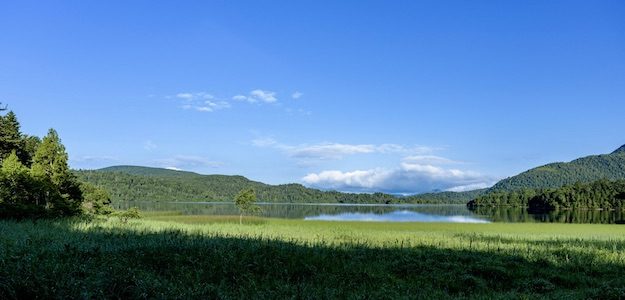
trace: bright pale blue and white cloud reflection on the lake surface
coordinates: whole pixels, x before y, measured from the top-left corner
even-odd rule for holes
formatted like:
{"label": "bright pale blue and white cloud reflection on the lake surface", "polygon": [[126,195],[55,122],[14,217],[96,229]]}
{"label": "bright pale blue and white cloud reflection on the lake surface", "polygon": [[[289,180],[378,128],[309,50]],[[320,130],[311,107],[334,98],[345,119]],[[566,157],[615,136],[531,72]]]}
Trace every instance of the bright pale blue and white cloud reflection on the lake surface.
{"label": "bright pale blue and white cloud reflection on the lake surface", "polygon": [[390,213],[340,213],[336,215],[318,215],[305,217],[305,220],[318,221],[366,221],[366,222],[451,222],[451,223],[490,223],[487,220],[469,216],[428,215],[409,210],[397,210]]}

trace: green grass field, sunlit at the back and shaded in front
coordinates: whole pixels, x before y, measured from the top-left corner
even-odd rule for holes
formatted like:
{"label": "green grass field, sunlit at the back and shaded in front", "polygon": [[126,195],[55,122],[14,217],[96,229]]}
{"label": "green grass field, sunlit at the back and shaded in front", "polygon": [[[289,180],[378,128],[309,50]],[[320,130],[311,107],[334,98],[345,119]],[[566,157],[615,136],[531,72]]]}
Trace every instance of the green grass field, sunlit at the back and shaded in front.
{"label": "green grass field, sunlit at the back and shaded in front", "polygon": [[0,222],[0,298],[625,298],[625,226]]}

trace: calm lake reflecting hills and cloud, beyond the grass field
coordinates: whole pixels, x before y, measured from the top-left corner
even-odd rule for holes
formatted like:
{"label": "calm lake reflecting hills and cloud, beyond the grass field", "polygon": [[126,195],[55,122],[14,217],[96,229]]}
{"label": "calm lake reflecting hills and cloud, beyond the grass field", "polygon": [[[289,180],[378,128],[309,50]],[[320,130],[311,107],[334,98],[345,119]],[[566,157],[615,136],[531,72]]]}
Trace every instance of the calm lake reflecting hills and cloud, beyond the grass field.
{"label": "calm lake reflecting hills and cloud, beyond the grass field", "polygon": [[[324,221],[625,223],[623,212],[601,210],[530,214],[523,208],[480,208],[471,211],[465,205],[453,204],[259,203],[259,205],[263,210],[261,214],[263,217]],[[136,206],[143,211],[179,211],[189,215],[238,215],[234,204],[224,202],[125,202],[114,206],[120,209]]]}

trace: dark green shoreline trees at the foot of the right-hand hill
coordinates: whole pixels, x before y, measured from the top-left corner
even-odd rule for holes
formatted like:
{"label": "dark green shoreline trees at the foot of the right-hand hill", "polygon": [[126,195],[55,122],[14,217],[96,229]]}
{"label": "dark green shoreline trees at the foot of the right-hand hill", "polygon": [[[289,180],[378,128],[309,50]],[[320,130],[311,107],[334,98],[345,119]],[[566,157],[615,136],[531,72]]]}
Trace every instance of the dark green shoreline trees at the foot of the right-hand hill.
{"label": "dark green shoreline trees at the foot of the right-hand hill", "polygon": [[478,197],[469,207],[516,206],[530,211],[558,209],[616,209],[625,210],[625,180],[597,180],[575,183],[554,189],[494,192]]}

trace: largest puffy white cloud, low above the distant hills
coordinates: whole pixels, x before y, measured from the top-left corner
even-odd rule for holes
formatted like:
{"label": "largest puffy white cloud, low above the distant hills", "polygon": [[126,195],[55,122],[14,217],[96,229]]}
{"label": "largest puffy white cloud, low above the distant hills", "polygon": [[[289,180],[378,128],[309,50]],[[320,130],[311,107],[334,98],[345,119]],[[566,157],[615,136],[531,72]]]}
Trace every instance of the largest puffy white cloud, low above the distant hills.
{"label": "largest puffy white cloud, low above the distant hills", "polygon": [[302,181],[309,186],[322,189],[415,194],[437,190],[465,191],[485,188],[493,185],[496,179],[478,172],[404,159],[400,166],[394,169],[327,170],[310,173],[302,178]]}

